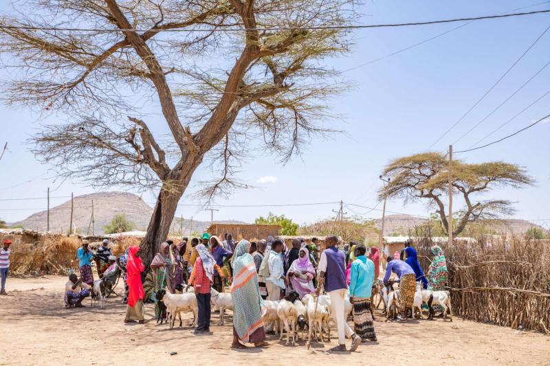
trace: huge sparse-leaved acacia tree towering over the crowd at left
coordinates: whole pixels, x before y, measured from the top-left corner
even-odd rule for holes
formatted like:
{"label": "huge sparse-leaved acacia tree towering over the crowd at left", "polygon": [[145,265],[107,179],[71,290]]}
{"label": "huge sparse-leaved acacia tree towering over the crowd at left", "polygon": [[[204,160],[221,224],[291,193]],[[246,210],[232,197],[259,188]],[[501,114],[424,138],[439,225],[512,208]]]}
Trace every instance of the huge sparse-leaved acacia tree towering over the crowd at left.
{"label": "huge sparse-leaved acacia tree towering over the crowd at left", "polygon": [[353,7],[353,0],[15,1],[17,12],[0,19],[0,49],[13,70],[5,101],[66,121],[33,139],[36,156],[61,176],[157,189],[142,242],[148,262],[201,163],[215,173],[199,187],[211,199],[245,186],[232,173],[251,139],[287,161],[312,134],[329,131],[325,100],[342,82],[323,63],[348,51],[338,26],[356,19]]}

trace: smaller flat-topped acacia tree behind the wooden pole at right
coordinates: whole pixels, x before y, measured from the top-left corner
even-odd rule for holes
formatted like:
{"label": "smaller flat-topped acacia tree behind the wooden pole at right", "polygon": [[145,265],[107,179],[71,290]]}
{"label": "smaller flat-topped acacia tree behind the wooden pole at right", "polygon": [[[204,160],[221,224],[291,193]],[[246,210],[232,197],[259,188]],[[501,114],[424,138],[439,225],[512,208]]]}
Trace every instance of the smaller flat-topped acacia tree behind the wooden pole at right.
{"label": "smaller flat-topped acacia tree behind the wooden pole at right", "polygon": [[[391,161],[384,168],[384,175],[391,180],[378,194],[404,198],[407,201],[428,201],[439,214],[441,225],[449,230],[445,197],[448,197],[448,158],[439,152],[401,157]],[[524,168],[503,161],[468,164],[461,160],[452,161],[453,197],[462,198],[453,235],[461,233],[469,222],[479,219],[494,219],[514,213],[511,202],[502,199],[476,200],[475,196],[497,187],[522,187],[533,184]]]}

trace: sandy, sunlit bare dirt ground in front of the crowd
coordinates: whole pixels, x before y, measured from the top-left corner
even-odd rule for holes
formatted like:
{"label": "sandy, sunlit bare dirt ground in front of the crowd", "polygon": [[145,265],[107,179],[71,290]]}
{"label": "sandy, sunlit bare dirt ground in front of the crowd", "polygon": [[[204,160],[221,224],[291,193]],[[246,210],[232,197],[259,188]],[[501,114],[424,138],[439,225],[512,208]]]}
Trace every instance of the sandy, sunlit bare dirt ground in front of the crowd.
{"label": "sandy, sunlit bare dirt ground in front of the crowd", "polygon": [[[549,336],[459,318],[386,323],[380,310],[378,342],[363,343],[358,352],[327,354],[336,338],[331,345],[313,343],[308,351],[303,341],[285,346],[275,336],[268,336],[267,348],[235,351],[229,347],[231,312],[223,326],[215,325],[218,314],[212,314],[209,336],[191,334],[190,314],[183,328],[173,330],[155,321],[124,324],[120,297],[108,299],[104,309],[89,308],[87,299],[87,308],[66,310],[66,281],[60,276],[8,279],[9,295],[0,297],[0,365],[550,365]],[[146,319],[153,316],[147,304]],[[336,325],[331,328],[336,335]]]}

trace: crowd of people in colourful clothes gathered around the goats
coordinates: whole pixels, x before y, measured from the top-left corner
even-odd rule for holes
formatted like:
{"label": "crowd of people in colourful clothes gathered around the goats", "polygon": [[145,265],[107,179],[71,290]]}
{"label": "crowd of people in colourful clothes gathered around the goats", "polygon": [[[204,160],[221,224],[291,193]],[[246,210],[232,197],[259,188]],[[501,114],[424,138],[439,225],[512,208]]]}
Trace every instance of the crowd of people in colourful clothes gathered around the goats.
{"label": "crowd of people in colourful clothes gathered around the goats", "polygon": [[[210,333],[210,289],[223,292],[230,286],[233,301],[232,347],[255,347],[267,345],[262,311],[263,301],[278,301],[290,292],[296,292],[300,299],[306,295],[320,295],[324,290],[330,297],[331,316],[338,328],[336,351],[347,350],[345,339],[351,338],[351,350],[356,350],[362,341],[376,341],[371,301],[373,287],[380,281],[380,251],[377,247],[367,248],[364,244],[343,244],[336,236],[325,238],[325,248],[320,251],[317,238],[307,244],[295,238],[292,244],[268,237],[266,240],[238,244],[230,233],[224,240],[203,233],[199,238],[183,238],[175,244],[172,240],[163,242],[159,252],[146,268],[141,249],[132,246],[118,258],[111,253],[109,242],[104,240],[94,252],[88,242],[83,242],[77,251],[80,278],[72,274],[65,286],[67,308],[82,307],[85,297],[94,296],[94,278],[91,260],[97,263],[100,277],[120,271],[124,281],[126,303],[125,322],[144,322],[144,303],[155,303],[155,317],[164,314],[155,293],[166,288],[175,293],[178,285],[192,286],[197,299],[198,319],[195,334]],[[445,256],[441,247],[431,248],[433,260],[427,275],[417,259],[417,251],[408,244],[397,258],[386,258],[384,285],[392,273],[399,283],[399,321],[406,321],[406,309],[412,307],[417,282],[428,290],[440,290],[448,281]],[[345,299],[349,291],[352,305],[353,328],[347,323]]]}

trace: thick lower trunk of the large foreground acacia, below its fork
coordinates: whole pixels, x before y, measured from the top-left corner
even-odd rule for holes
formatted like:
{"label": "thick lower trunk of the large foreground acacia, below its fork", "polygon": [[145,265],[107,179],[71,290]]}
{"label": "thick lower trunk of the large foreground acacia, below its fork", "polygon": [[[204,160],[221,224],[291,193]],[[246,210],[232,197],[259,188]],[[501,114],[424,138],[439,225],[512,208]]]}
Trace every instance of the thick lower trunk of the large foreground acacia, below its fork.
{"label": "thick lower trunk of the large foreground acacia, below its fork", "polygon": [[146,266],[151,264],[153,257],[159,251],[160,243],[166,241],[170,226],[177,209],[179,198],[183,196],[187,185],[168,189],[165,185],[159,192],[153,215],[147,227],[147,233],[140,245],[142,248],[142,259]]}

